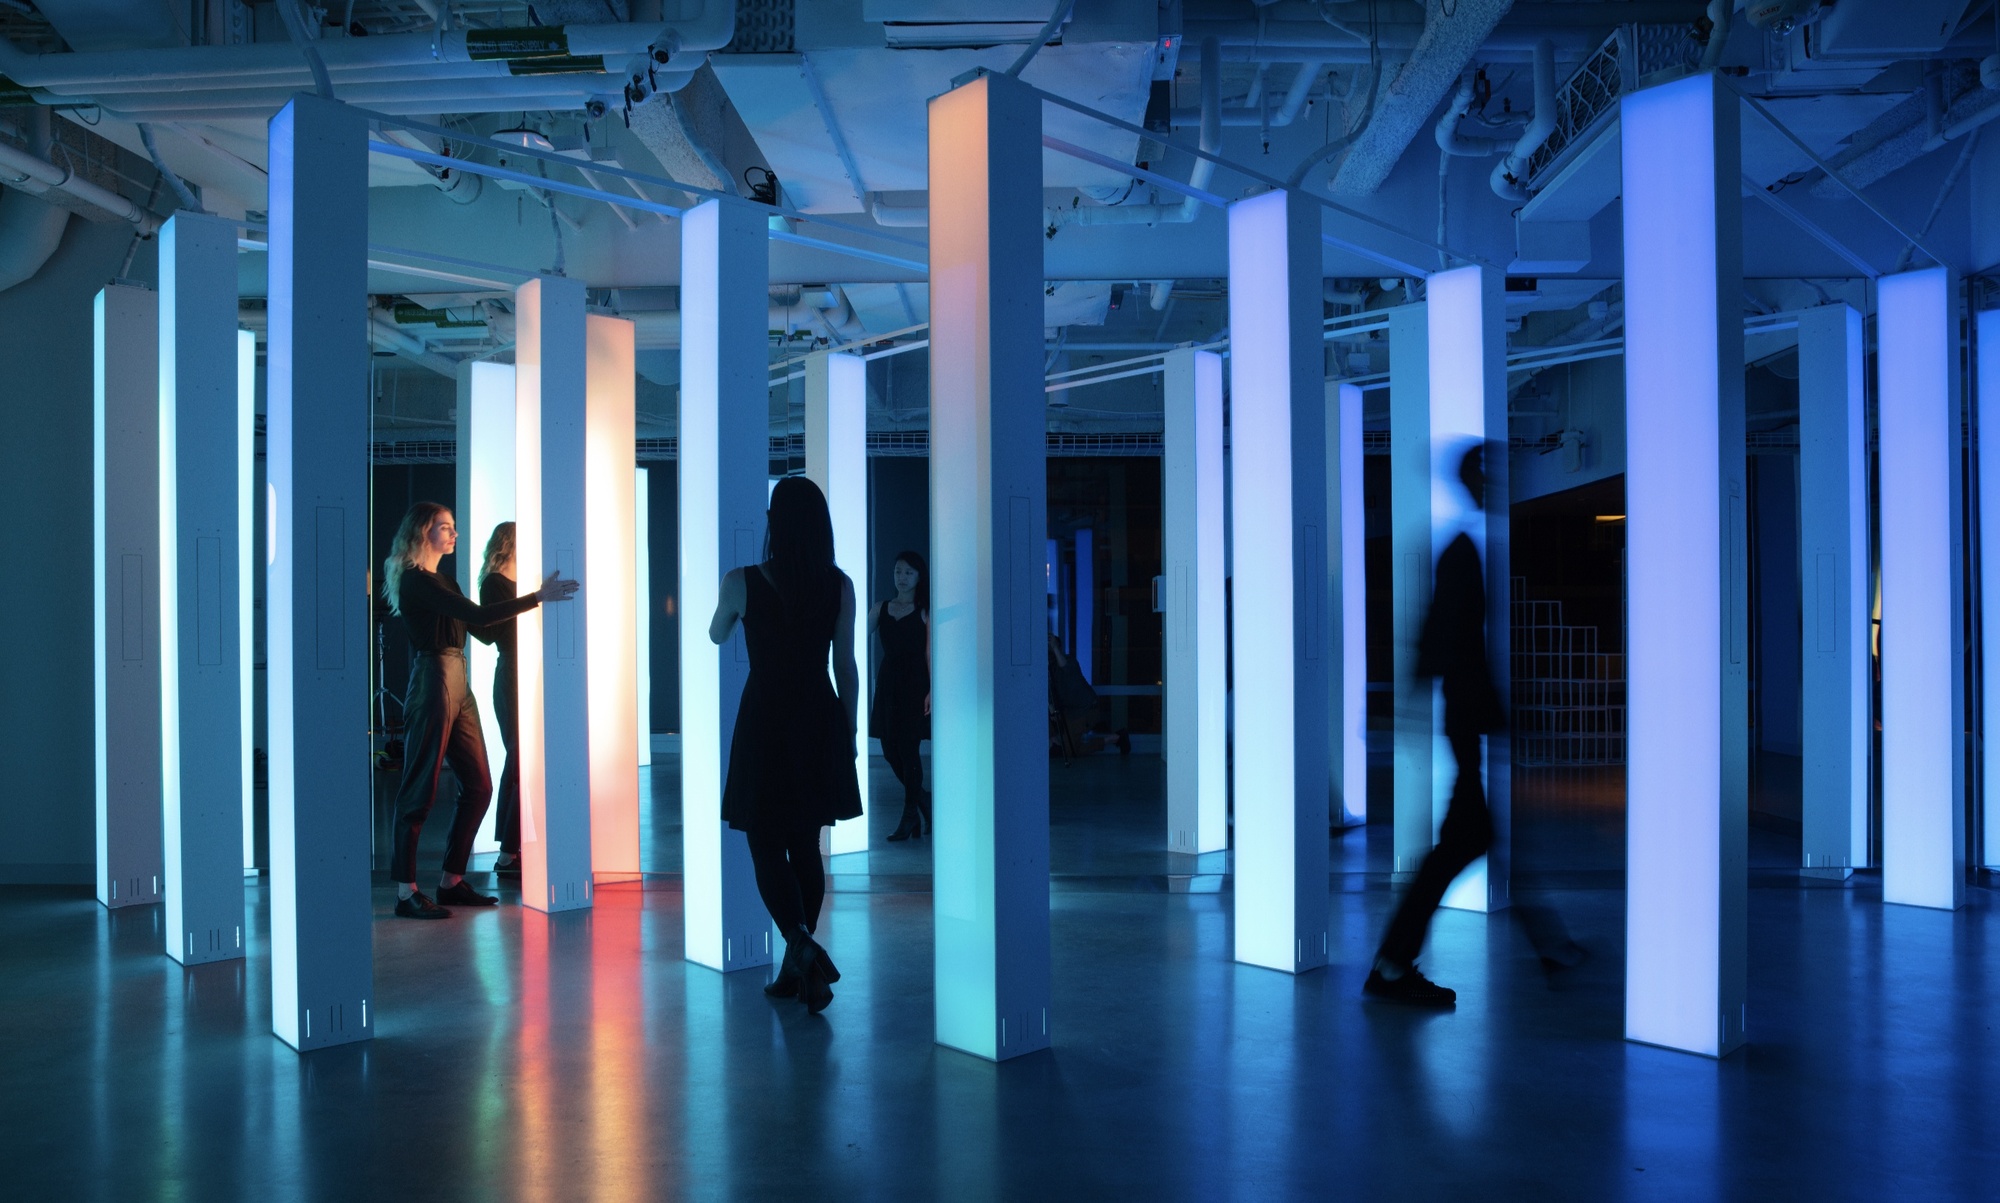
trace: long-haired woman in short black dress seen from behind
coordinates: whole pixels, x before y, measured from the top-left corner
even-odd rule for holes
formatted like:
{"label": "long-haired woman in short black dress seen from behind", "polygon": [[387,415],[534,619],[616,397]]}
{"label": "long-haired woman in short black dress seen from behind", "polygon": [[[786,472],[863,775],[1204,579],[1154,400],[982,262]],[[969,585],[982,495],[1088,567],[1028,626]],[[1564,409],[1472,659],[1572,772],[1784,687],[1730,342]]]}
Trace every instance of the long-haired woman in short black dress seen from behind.
{"label": "long-haired woman in short black dress seen from behind", "polygon": [[[722,819],[744,831],[756,889],[784,933],[784,963],[764,987],[800,997],[812,1013],[834,1001],[840,971],[812,933],[826,901],[820,827],[862,813],[854,775],[854,582],[834,566],[826,496],[802,476],[778,482],[764,530],[764,562],[732,568],[708,637],[726,643],[744,623],[744,681]],[[826,679],[832,653],[834,679]]]}

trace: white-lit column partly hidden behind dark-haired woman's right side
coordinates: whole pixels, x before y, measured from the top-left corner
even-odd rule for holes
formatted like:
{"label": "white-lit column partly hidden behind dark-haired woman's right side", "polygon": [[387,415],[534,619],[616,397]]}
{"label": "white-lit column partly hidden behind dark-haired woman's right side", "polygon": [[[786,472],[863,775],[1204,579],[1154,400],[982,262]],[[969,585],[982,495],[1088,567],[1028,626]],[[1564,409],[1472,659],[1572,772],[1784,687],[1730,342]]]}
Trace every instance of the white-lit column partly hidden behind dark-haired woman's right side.
{"label": "white-lit column partly hidden behind dark-haired woman's right side", "polygon": [[[806,476],[826,494],[834,516],[834,564],[854,580],[854,605],[868,596],[868,364],[858,356],[806,356]],[[868,851],[868,617],[854,615],[854,665],[860,671],[854,773],[862,817],[834,823],[826,851]]]}

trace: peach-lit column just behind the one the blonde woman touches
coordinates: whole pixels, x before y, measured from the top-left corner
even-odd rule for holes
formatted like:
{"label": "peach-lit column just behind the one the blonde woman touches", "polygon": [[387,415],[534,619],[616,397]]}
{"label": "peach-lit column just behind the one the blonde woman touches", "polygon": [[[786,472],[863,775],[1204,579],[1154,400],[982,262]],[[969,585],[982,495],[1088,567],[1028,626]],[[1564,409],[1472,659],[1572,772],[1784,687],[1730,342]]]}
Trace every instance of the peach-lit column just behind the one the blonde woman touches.
{"label": "peach-lit column just behind the one the blonde woman touches", "polygon": [[[584,512],[590,619],[590,863],[638,879],[638,466],[634,326],[586,322]],[[546,494],[544,494],[546,498]]]}

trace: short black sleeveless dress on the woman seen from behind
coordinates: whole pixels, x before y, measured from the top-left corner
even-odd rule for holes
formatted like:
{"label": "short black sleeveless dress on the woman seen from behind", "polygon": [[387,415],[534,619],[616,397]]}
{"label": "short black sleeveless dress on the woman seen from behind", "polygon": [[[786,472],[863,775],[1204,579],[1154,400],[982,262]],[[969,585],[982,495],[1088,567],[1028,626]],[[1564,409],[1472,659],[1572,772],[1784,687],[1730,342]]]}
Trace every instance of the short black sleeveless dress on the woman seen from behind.
{"label": "short black sleeveless dress on the woman seen from behind", "polygon": [[722,819],[738,831],[798,831],[858,819],[854,737],[826,671],[840,617],[838,588],[824,613],[792,615],[758,566],[746,566],[742,576],[750,679],[736,709]]}

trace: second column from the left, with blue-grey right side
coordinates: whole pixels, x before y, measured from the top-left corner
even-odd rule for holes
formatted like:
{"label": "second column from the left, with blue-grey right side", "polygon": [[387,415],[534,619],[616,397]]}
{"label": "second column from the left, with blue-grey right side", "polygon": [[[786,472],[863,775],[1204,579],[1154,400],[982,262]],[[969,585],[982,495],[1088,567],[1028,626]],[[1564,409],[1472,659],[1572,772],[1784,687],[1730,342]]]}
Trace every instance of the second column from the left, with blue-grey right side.
{"label": "second column from the left, with blue-grey right side", "polygon": [[236,228],[160,230],[160,815],[166,953],[244,955],[244,797],[254,416],[238,388]]}

